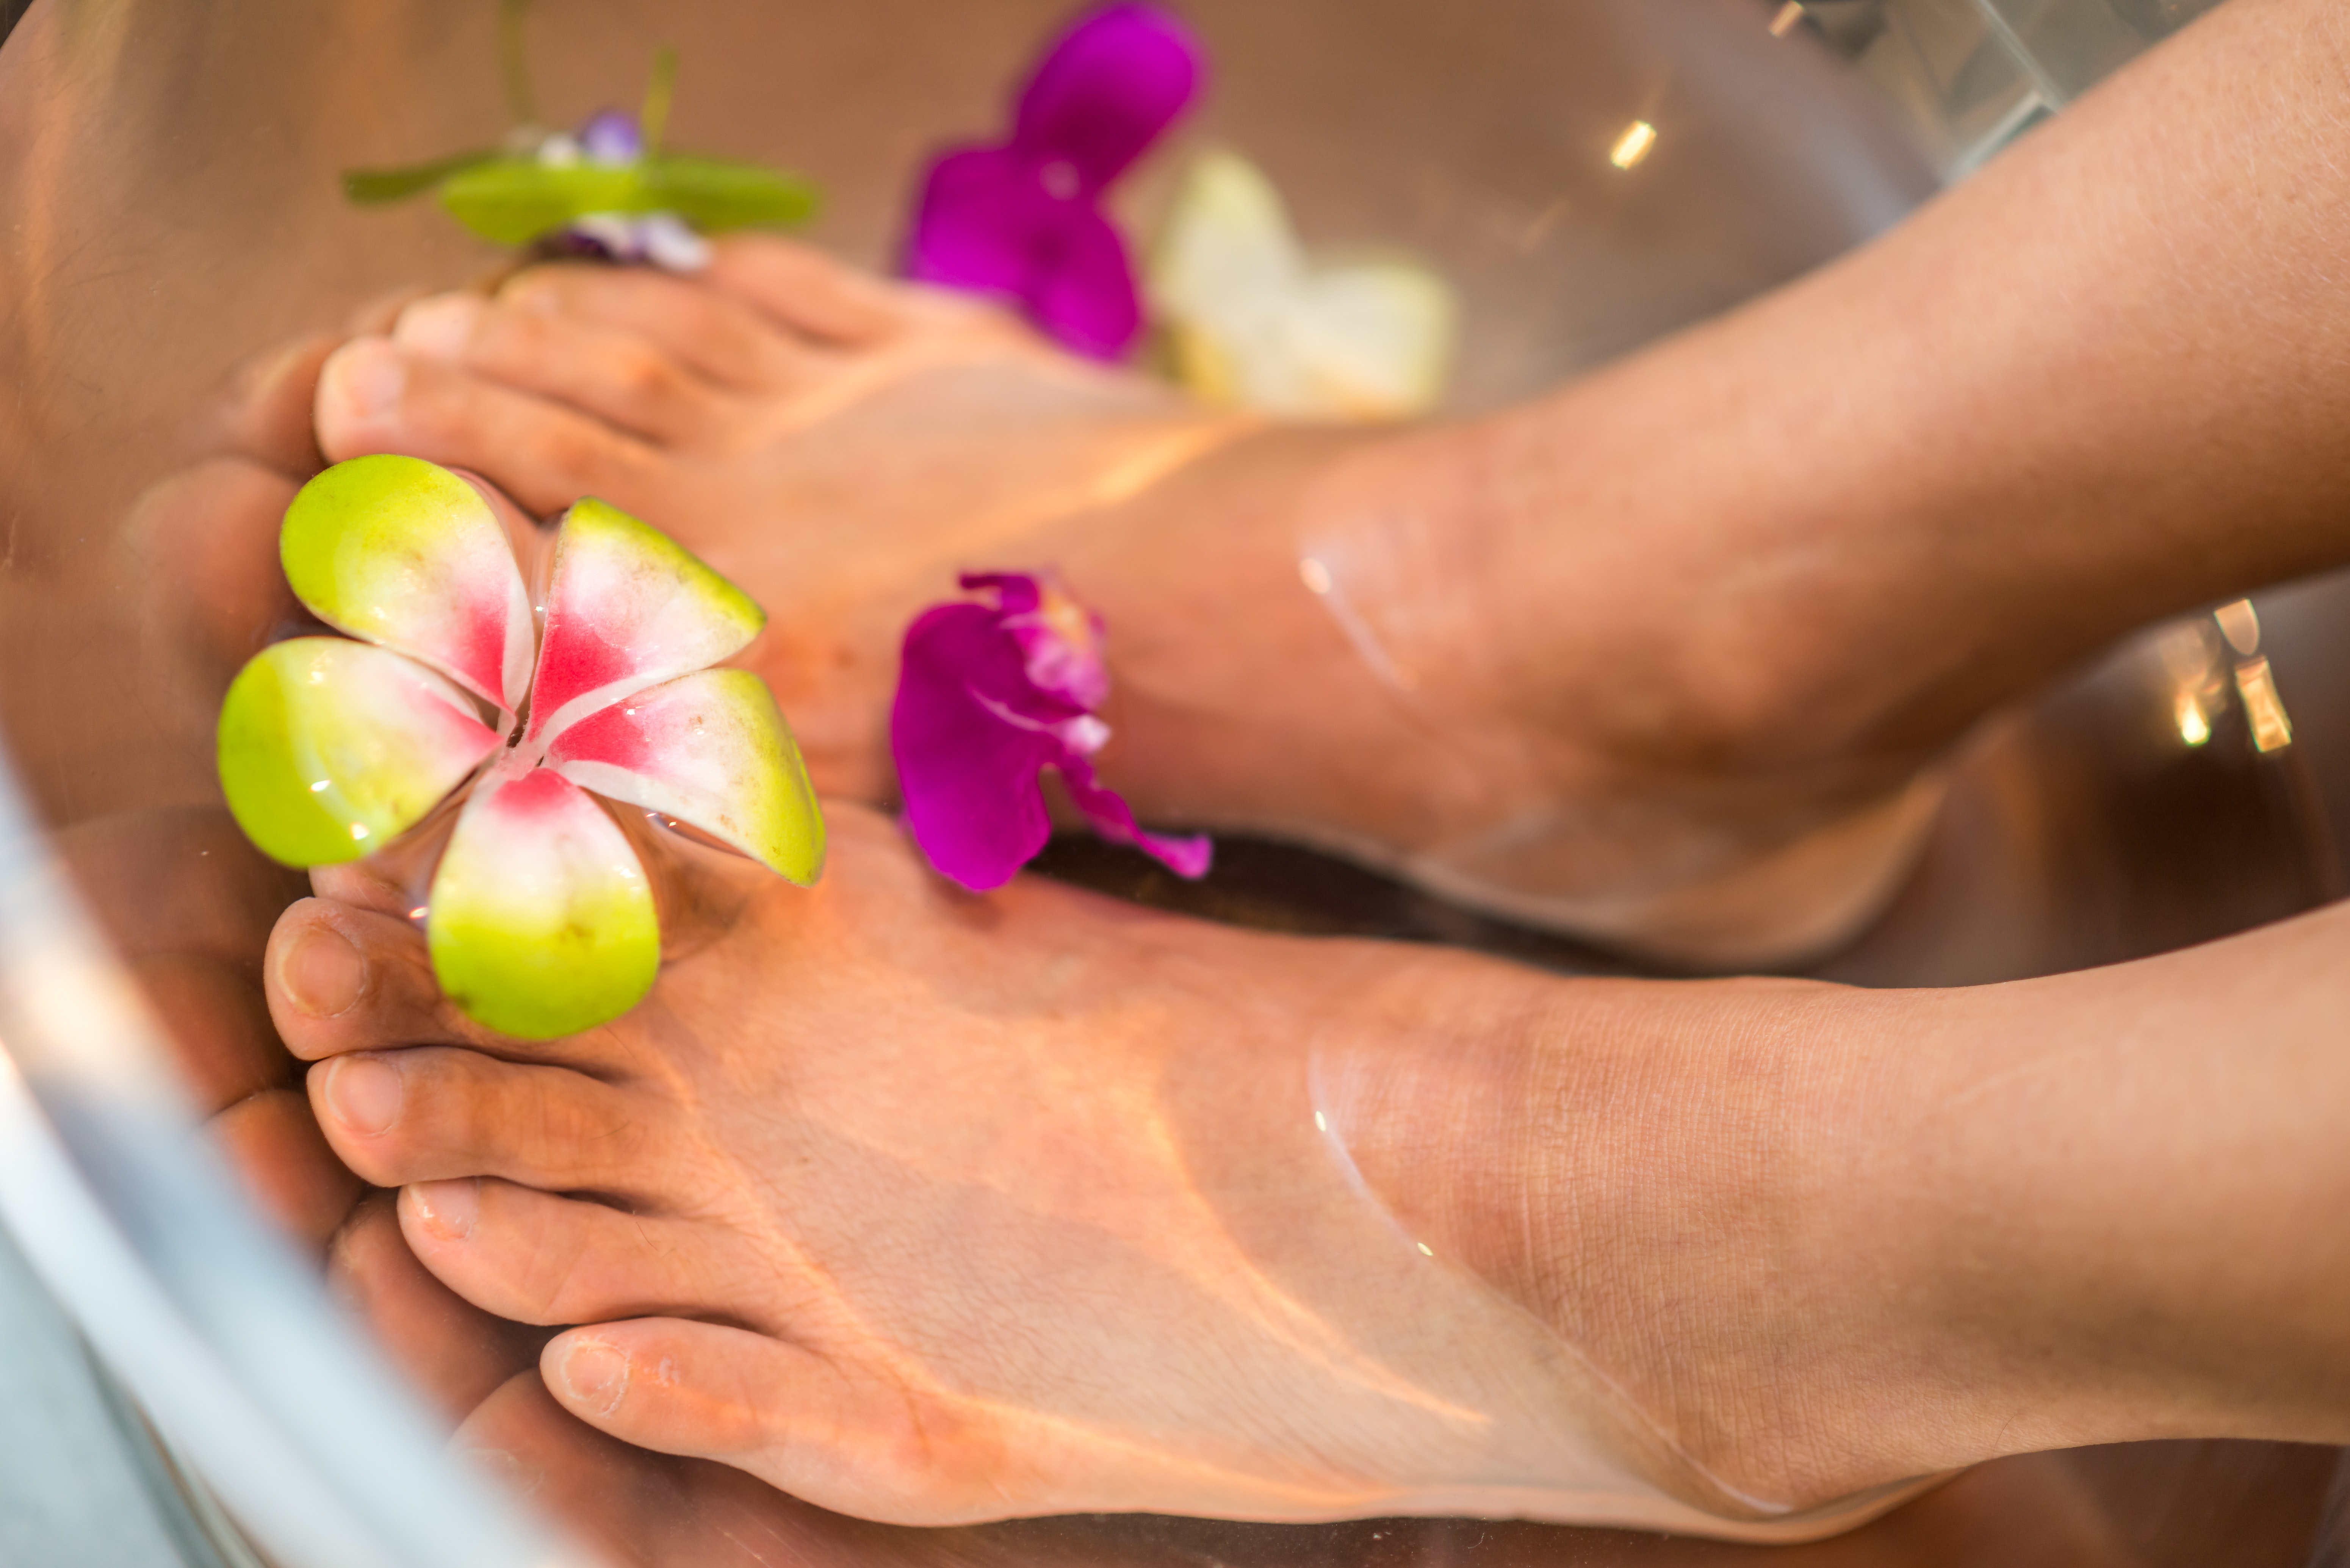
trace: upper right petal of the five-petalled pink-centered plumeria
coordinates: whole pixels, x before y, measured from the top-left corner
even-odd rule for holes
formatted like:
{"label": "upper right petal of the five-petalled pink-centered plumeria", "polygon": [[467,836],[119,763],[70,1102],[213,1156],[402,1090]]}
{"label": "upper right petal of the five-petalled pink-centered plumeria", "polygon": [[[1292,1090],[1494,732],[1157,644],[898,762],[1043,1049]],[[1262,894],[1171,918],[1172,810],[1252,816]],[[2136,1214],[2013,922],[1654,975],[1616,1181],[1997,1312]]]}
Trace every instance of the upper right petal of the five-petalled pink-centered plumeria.
{"label": "upper right petal of the five-petalled pink-centered plumeria", "polygon": [[580,501],[555,536],[529,741],[632,691],[740,654],[766,614],[684,545],[620,508]]}

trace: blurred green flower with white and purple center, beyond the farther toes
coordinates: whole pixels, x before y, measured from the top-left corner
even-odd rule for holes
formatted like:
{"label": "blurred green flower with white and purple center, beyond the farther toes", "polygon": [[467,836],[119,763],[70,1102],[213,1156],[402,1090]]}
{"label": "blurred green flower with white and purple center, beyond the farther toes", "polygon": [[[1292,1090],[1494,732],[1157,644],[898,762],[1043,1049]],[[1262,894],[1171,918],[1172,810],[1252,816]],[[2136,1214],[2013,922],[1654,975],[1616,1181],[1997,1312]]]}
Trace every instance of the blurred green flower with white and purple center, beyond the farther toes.
{"label": "blurred green flower with white and purple center, beyond the farther toes", "polygon": [[505,148],[407,169],[352,169],[343,174],[343,193],[371,207],[437,188],[458,223],[496,244],[649,261],[679,273],[707,263],[703,235],[804,223],[818,200],[806,179],[660,148],[674,68],[672,52],[656,56],[642,120],[606,108],[576,134],[524,125]]}

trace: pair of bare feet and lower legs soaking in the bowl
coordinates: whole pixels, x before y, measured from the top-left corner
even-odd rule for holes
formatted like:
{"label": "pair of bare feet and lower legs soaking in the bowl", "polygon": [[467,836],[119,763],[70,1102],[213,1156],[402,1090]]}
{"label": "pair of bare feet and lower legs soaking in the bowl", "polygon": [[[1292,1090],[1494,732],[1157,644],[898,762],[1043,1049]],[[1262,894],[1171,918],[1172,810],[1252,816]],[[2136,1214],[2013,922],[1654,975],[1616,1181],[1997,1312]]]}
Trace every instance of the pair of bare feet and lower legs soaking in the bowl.
{"label": "pair of bare feet and lower legs soaking in the bowl", "polygon": [[[757,599],[830,860],[679,851],[691,940],[552,1039],[444,994],[390,863],[317,867],[268,1016],[400,1190],[338,1279],[538,1349],[477,1453],[536,1465],[550,1396],[916,1526],[1802,1540],[2009,1453],[2350,1441],[2338,907],[1969,990],[1560,978],[956,886],[891,724],[926,609],[1050,574],[1107,675],[1058,743],[1152,832],[1673,966],[1831,950],[1986,712],[2350,564],[2345,89],[2334,7],[2235,0],[1849,259],[1429,425],[1203,407],[766,235],[407,303],[315,371],[317,451],[602,498]],[[242,658],[289,602],[230,578]]]}

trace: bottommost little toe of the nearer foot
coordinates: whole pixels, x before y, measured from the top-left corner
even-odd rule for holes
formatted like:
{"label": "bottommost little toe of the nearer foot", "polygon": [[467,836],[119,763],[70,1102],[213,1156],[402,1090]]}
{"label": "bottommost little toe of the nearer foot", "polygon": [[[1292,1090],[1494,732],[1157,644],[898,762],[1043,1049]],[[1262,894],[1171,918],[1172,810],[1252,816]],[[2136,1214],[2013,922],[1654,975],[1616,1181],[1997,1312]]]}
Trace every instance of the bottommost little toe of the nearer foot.
{"label": "bottommost little toe of the nearer foot", "polygon": [[996,1425],[785,1340],[639,1319],[573,1328],[538,1361],[590,1427],[656,1453],[721,1460],[818,1507],[893,1523],[1015,1512]]}

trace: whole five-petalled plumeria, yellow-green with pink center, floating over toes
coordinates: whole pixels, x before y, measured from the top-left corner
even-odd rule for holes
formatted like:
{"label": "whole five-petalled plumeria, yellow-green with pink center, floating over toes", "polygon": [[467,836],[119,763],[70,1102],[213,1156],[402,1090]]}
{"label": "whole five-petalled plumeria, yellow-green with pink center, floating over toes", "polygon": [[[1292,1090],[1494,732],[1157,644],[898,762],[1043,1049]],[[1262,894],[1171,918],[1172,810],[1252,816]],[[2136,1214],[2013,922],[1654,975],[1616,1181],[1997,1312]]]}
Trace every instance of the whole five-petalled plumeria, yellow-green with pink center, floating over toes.
{"label": "whole five-petalled plumeria, yellow-green with pink center, floating over toes", "polygon": [[228,809],[268,856],[336,865],[463,792],[418,914],[432,973],[479,1023],[552,1039],[653,985],[653,886],[590,790],[801,886],[822,867],[776,698],[710,668],[766,616],[665,534],[580,501],[533,611],[475,484],[367,456],[301,489],[277,550],[294,595],[348,637],[294,637],[237,672],[219,729]]}

